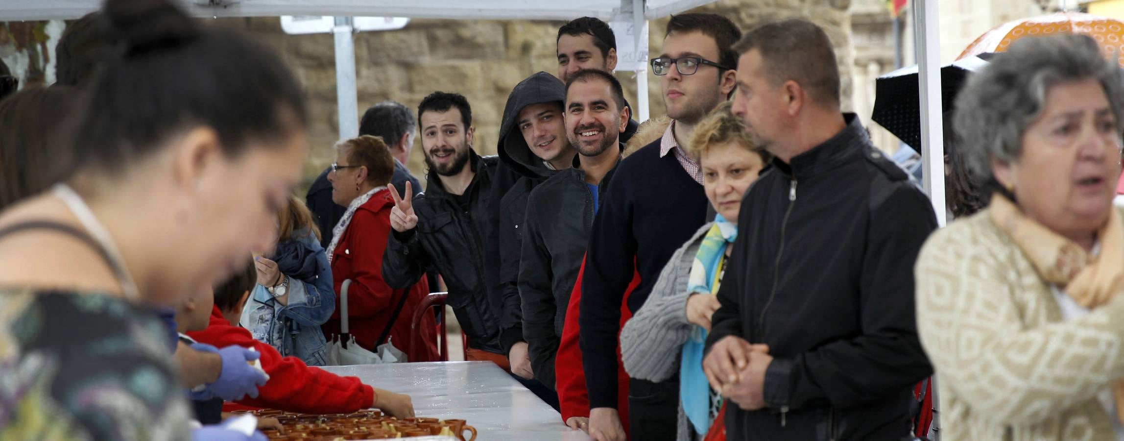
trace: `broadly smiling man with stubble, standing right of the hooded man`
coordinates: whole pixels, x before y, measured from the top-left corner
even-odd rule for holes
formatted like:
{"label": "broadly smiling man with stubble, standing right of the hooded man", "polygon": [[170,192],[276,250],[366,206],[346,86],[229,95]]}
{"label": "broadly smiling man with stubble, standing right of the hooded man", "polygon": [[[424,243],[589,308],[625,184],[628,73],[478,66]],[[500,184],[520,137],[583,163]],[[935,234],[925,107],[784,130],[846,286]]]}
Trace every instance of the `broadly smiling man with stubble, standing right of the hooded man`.
{"label": "broadly smiling man with stubble, standing right of the hooded man", "polygon": [[552,389],[570,291],[598,201],[620,161],[620,133],[628,125],[624,91],[611,74],[578,71],[570,75],[565,91],[565,134],[578,158],[573,168],[555,173],[531,192],[519,266],[531,363],[535,378]]}

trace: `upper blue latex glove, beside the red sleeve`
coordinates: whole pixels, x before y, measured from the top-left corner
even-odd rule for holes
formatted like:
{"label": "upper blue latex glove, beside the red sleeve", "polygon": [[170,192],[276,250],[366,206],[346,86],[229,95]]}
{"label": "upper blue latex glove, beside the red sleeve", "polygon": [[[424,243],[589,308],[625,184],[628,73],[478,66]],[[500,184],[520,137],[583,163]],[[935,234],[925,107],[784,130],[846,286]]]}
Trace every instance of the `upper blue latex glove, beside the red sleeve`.
{"label": "upper blue latex glove, beside the red sleeve", "polygon": [[191,399],[205,400],[214,397],[234,402],[250,395],[257,398],[257,386],[264,386],[269,379],[262,372],[250,366],[247,361],[254,361],[262,357],[261,353],[246,348],[232,345],[223,349],[215,349],[210,344],[196,343],[191,345],[197,351],[217,353],[223,359],[223,370],[215,382],[207,385],[202,392],[191,393]]}

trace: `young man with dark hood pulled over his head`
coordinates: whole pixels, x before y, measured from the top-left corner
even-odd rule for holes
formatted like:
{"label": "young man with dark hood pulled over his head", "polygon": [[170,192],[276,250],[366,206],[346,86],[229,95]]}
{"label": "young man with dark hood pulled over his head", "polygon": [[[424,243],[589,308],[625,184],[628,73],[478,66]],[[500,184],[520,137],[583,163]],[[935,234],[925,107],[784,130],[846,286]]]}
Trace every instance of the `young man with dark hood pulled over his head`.
{"label": "young man with dark hood pulled over his head", "polygon": [[[501,164],[522,178],[507,189],[499,204],[500,286],[504,292],[500,343],[511,372],[534,379],[519,305],[519,252],[527,197],[556,170],[568,169],[577,154],[566,140],[562,120],[565,84],[546,72],[535,73],[511,90],[499,130]],[[499,186],[493,190],[501,191]],[[545,385],[553,386],[553,385]],[[553,389],[553,387],[551,387]]]}

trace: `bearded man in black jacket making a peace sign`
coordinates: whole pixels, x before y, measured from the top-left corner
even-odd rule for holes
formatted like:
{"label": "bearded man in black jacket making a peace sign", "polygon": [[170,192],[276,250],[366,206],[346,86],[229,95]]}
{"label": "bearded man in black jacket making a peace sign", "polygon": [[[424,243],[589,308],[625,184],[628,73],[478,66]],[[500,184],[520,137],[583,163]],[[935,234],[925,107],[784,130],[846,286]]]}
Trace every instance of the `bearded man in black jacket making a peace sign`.
{"label": "bearded man in black jacket making a peace sign", "polygon": [[416,197],[409,183],[405,197],[391,191],[393,231],[382,277],[400,289],[436,268],[469,336],[465,359],[495,361],[510,371],[499,341],[498,210],[489,191],[498,159],[472,150],[472,109],[461,94],[429,94],[418,105],[418,123],[429,186]]}

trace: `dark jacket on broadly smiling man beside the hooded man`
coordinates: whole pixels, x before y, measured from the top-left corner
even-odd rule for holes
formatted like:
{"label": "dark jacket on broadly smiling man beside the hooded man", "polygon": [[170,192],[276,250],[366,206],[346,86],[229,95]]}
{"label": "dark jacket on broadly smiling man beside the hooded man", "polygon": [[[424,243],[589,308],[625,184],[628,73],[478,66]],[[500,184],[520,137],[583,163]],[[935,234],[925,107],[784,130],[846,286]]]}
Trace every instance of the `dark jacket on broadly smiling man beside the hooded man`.
{"label": "dark jacket on broadly smiling man beside the hooded man", "polygon": [[[624,144],[620,145],[622,150]],[[619,160],[617,162],[619,164]],[[601,178],[597,199],[605,196],[616,165]],[[562,341],[570,292],[586,255],[597,207],[586,184],[586,171],[558,172],[531,192],[519,263],[523,336],[535,378],[554,389],[554,356]]]}

